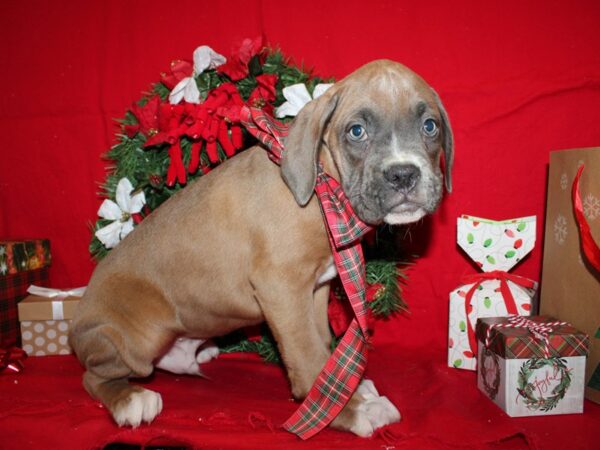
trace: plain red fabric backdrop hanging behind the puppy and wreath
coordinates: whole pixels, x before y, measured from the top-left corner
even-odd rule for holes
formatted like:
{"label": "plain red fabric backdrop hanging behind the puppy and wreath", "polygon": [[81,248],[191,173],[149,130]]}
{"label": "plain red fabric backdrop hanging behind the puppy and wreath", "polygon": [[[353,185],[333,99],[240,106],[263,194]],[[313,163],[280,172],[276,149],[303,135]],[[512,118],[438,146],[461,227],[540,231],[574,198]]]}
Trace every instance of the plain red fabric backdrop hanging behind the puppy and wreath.
{"label": "plain red fabric backdrop hanging behind the puppy and wreath", "polygon": [[376,342],[443,362],[448,292],[473,272],[455,245],[458,215],[537,215],[538,245],[515,272],[539,278],[548,153],[600,144],[599,23],[594,0],[2,2],[0,236],[49,237],[53,284],[86,284],[113,119],[198,45],[227,54],[263,35],[335,77],[394,59],[439,92],[456,164],[452,195],[407,236],[420,255],[411,314]]}

